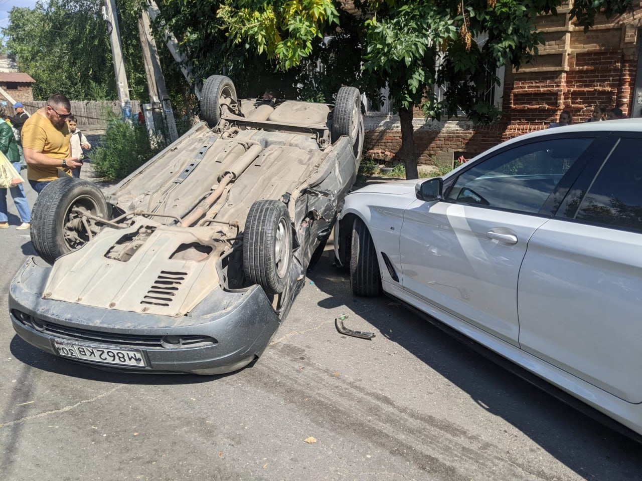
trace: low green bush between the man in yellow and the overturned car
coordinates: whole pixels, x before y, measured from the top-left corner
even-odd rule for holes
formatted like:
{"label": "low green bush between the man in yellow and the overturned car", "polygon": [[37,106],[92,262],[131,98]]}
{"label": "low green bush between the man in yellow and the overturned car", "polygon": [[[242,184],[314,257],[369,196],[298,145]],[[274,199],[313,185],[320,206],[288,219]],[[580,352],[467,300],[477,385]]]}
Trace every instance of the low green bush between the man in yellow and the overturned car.
{"label": "low green bush between the man in yellow and the overturned car", "polygon": [[111,119],[92,155],[94,172],[107,181],[121,180],[163,148],[162,142],[150,142],[144,125]]}

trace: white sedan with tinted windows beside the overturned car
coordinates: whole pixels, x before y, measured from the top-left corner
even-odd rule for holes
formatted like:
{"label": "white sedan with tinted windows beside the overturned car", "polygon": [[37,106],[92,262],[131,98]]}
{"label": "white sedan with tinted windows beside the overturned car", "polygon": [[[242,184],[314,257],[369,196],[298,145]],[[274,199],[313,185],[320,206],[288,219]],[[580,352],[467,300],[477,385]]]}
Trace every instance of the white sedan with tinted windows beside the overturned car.
{"label": "white sedan with tinted windows beside the overturned car", "polygon": [[383,290],[642,434],[642,119],[523,135],[357,190],[339,218],[354,294]]}

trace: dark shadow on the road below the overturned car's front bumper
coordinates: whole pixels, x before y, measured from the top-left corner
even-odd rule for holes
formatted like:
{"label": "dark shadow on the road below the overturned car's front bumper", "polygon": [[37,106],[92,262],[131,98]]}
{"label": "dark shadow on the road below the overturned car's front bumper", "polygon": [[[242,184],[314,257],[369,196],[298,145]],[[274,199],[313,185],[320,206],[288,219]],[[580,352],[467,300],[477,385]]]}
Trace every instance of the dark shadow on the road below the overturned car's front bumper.
{"label": "dark shadow on the road below the overturned car's front bumper", "polygon": [[[23,341],[19,335],[14,335],[9,349],[15,359],[31,366],[39,371],[46,371],[63,376],[70,376],[79,379],[108,382],[116,384],[140,384],[140,385],[183,385],[200,384],[225,378],[234,373],[227,373],[213,376],[197,376],[195,374],[172,374],[135,372],[124,373],[123,371],[110,370],[103,367],[92,367],[73,360],[57,357],[53,354],[41,351]],[[256,362],[256,361],[255,361]],[[244,369],[251,369],[254,362],[250,362]],[[235,371],[238,372],[238,371]]]}

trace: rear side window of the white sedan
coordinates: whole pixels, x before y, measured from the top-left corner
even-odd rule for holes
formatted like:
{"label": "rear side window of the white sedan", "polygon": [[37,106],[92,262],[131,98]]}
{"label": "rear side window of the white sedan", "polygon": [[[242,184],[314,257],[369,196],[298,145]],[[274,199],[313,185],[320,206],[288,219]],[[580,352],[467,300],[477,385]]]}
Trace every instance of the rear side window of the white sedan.
{"label": "rear side window of the white sedan", "polygon": [[642,232],[642,139],[621,139],[602,165],[575,219]]}

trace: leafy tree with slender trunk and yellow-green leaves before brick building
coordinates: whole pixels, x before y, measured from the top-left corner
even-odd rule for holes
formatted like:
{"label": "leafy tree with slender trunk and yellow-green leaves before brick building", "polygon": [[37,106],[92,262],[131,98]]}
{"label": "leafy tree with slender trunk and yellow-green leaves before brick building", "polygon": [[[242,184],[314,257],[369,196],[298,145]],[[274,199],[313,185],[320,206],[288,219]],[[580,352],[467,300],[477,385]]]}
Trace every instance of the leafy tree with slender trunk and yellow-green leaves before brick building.
{"label": "leafy tree with slender trunk and yellow-green leaves before brick building", "polygon": [[[498,83],[497,67],[519,68],[537,55],[541,13],[556,13],[562,0],[355,0],[361,15],[344,28],[331,0],[224,0],[218,19],[233,44],[265,53],[288,71],[320,58],[333,35],[335,51],[351,51],[341,69],[354,72],[345,83],[366,92],[388,85],[401,119],[399,156],[406,176],[417,178],[413,109],[427,117],[464,112],[473,121],[492,122],[498,110],[483,94]],[[571,17],[586,29],[599,12],[607,16],[632,8],[632,0],[577,0]],[[213,22],[216,24],[216,21]],[[356,49],[350,50],[352,47]],[[358,72],[354,65],[363,67]],[[340,71],[337,72],[339,75]],[[322,80],[322,79],[321,79]],[[325,80],[329,80],[327,77]],[[435,86],[445,88],[443,98]]]}

